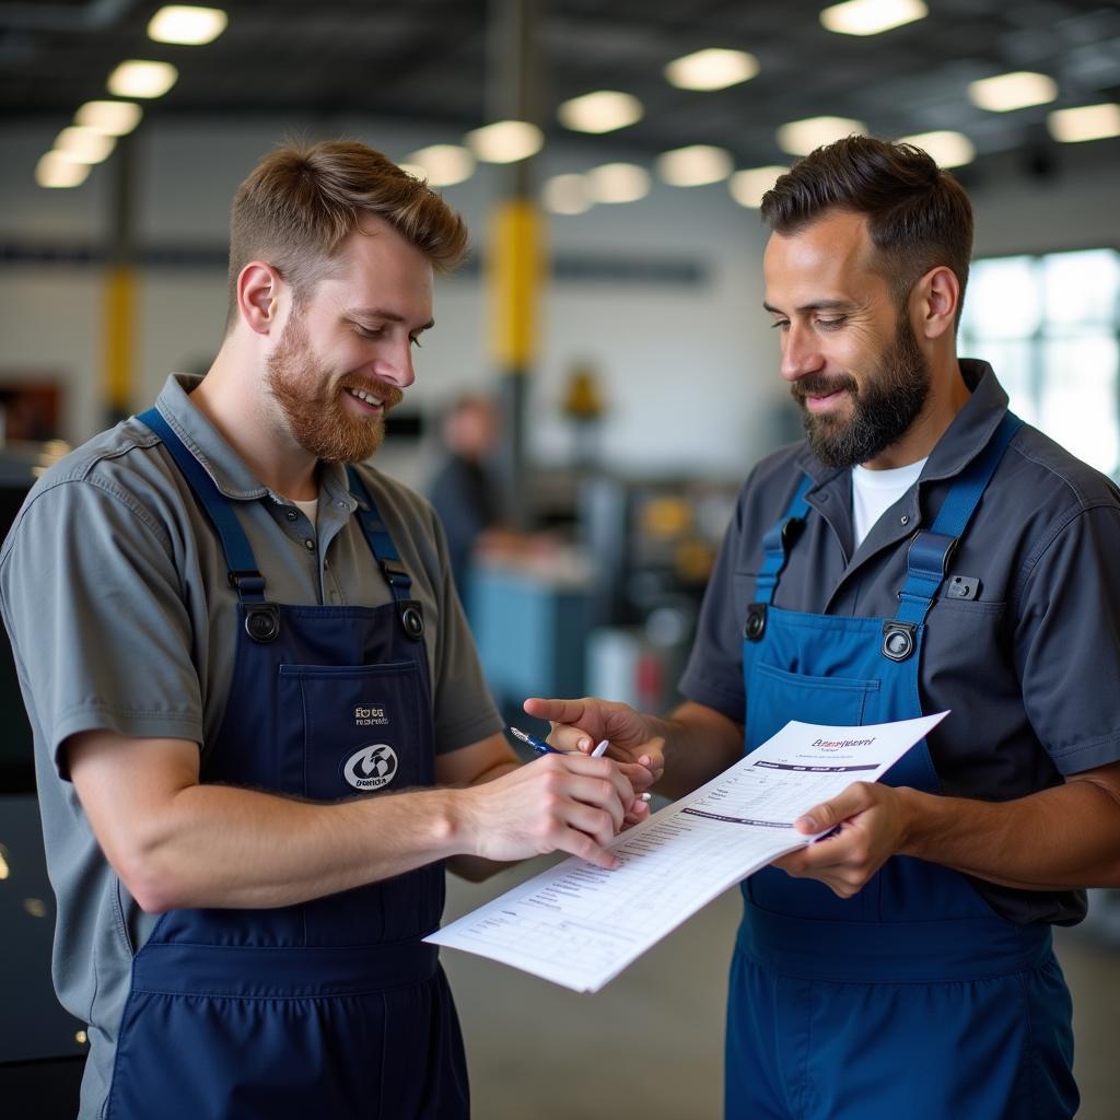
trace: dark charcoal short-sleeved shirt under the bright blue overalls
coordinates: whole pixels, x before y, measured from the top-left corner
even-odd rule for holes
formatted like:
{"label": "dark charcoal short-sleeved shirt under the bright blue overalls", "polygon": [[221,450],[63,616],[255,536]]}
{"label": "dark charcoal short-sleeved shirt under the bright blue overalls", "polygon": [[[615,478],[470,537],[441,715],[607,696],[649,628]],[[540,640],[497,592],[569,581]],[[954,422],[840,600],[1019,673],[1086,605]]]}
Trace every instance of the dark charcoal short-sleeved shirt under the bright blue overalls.
{"label": "dark charcoal short-sleeved shirt under the bright blue overalls", "polygon": [[[801,442],[752,472],[724,541],[681,681],[690,700],[741,724],[743,626],[755,598],[763,534],[802,474],[812,512],[782,573],[776,606],[893,617],[906,549],[928,528],[958,474],[995,432],[1007,394],[990,366],[961,361],[972,390],[915,486],[852,548],[851,472],[822,466]],[[1120,759],[1120,491],[1024,427],[1004,456],[951,563],[980,581],[974,600],[939,596],[926,617],[922,708],[952,709],[928,738],[945,793],[1023,797]],[[795,713],[791,712],[791,718]],[[1080,892],[1014,890],[977,881],[1020,922],[1084,916]]]}

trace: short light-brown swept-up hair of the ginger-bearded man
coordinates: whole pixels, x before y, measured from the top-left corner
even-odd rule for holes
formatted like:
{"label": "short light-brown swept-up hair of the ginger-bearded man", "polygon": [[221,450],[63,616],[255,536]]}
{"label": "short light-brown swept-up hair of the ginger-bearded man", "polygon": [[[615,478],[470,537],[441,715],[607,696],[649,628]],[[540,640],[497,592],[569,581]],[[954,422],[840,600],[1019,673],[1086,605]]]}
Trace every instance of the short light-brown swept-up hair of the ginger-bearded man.
{"label": "short light-brown swept-up hair of the ginger-bearded man", "polygon": [[367,215],[388,222],[437,271],[454,268],[466,252],[463,218],[426,183],[364,143],[288,144],[265,156],[233,199],[227,326],[236,318],[237,277],[250,261],[272,264],[301,301]]}

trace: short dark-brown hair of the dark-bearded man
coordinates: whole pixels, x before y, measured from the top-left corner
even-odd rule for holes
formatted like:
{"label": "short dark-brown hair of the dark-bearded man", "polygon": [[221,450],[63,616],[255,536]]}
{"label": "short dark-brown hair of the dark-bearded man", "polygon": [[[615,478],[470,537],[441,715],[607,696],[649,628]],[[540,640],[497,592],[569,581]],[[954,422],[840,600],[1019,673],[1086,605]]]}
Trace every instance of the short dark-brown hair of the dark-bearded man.
{"label": "short dark-brown hair of the dark-bearded man", "polygon": [[[944,264],[961,286],[972,256],[972,204],[933,158],[908,143],[852,136],[799,160],[763,195],[763,220],[791,234],[825,211],[867,216],[867,226],[898,302],[930,269]],[[960,319],[960,307],[956,311]]]}

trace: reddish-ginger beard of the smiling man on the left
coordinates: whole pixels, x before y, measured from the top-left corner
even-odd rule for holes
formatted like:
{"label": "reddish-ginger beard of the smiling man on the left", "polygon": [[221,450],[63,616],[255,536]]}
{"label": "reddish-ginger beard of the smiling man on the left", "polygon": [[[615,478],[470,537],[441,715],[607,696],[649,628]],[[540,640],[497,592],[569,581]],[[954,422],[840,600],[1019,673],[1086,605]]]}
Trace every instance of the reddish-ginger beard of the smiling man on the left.
{"label": "reddish-ginger beard of the smiling man on the left", "polygon": [[[343,401],[347,384],[375,391],[385,411],[401,400],[401,391],[383,381],[344,377],[332,383],[329,370],[318,362],[302,319],[293,309],[277,348],[269,355],[265,384],[283,412],[292,438],[324,463],[361,463],[385,437],[382,418],[354,417]],[[314,385],[314,391],[308,391]]]}

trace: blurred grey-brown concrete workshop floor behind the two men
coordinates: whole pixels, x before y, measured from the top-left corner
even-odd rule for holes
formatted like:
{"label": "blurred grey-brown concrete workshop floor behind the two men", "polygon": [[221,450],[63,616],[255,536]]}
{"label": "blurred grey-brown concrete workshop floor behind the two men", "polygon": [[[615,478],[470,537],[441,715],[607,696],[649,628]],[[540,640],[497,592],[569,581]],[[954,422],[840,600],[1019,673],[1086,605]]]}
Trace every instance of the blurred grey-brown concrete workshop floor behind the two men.
{"label": "blurred grey-brown concrete workshop floor behind the two men", "polygon": [[[512,869],[483,886],[449,878],[446,920],[544,866]],[[718,1120],[738,914],[738,892],[728,892],[594,996],[445,949],[477,1120]],[[1120,948],[1060,931],[1058,955],[1074,996],[1077,1117],[1116,1120]]]}

